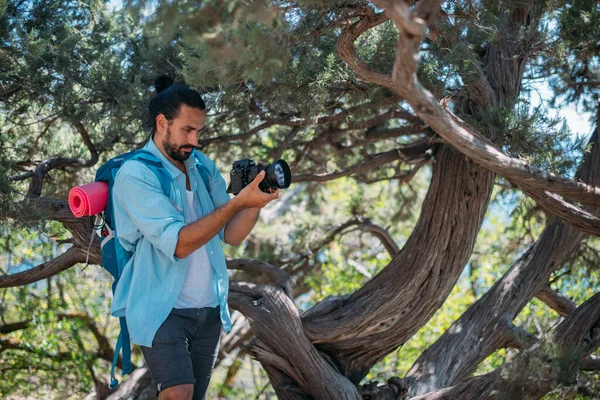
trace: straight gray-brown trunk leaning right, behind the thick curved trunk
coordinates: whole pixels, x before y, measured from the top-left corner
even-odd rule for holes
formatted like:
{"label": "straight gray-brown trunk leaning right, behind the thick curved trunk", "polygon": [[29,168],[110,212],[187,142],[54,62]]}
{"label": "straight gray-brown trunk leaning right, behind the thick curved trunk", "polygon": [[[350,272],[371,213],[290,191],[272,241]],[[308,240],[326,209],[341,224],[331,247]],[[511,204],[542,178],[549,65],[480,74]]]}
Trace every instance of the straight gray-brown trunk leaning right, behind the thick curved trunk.
{"label": "straight gray-brown trunk leaning right, behind the thick curved trunk", "polygon": [[[600,185],[599,130],[590,138],[591,151],[578,172],[578,177],[591,185]],[[506,347],[513,340],[512,320],[545,290],[552,272],[569,258],[583,236],[557,220],[548,225],[502,279],[417,359],[406,376],[409,395],[460,382],[490,354]]]}

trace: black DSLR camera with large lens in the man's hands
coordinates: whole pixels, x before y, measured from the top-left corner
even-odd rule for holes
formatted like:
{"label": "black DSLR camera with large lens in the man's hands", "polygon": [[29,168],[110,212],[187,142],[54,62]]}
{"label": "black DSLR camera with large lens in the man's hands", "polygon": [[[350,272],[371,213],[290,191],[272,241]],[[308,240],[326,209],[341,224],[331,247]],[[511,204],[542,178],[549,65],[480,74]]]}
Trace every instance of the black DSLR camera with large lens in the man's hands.
{"label": "black DSLR camera with large lens in the man's hands", "polygon": [[231,183],[227,193],[237,195],[256,178],[260,171],[266,171],[265,178],[258,184],[260,190],[270,193],[270,189],[287,189],[292,183],[290,166],[283,160],[273,164],[260,165],[252,160],[244,159],[233,163],[231,168]]}

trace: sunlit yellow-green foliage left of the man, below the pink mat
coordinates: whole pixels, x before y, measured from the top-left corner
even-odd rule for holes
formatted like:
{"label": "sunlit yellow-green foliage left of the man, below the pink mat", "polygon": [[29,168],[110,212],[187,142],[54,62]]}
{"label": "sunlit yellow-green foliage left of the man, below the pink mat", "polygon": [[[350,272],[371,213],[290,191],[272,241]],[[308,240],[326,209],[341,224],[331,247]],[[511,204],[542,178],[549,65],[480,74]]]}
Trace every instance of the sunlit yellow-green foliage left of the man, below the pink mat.
{"label": "sunlit yellow-green foliage left of the man, below the pink mat", "polygon": [[[37,229],[12,228],[0,241],[2,269],[14,273],[51,260],[66,246],[57,246],[55,240],[65,237],[65,229],[55,222],[42,235]],[[106,374],[110,364],[98,359],[99,342],[84,318],[89,316],[98,332],[114,342],[118,332],[108,323],[110,281],[100,268],[72,268],[31,285],[3,289],[0,296],[2,324],[28,324],[0,336],[15,346],[0,360],[0,396],[81,398],[94,386],[96,374]]]}

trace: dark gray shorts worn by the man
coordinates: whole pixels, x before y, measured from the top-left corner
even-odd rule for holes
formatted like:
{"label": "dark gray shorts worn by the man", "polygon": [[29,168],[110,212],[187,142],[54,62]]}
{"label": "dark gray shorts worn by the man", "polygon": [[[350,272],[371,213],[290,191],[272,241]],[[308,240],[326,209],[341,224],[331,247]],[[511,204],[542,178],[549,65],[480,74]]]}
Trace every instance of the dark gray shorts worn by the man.
{"label": "dark gray shorts worn by the man", "polygon": [[140,346],[158,391],[191,383],[194,400],[203,399],[220,336],[219,307],[174,308],[156,332],[152,347]]}

